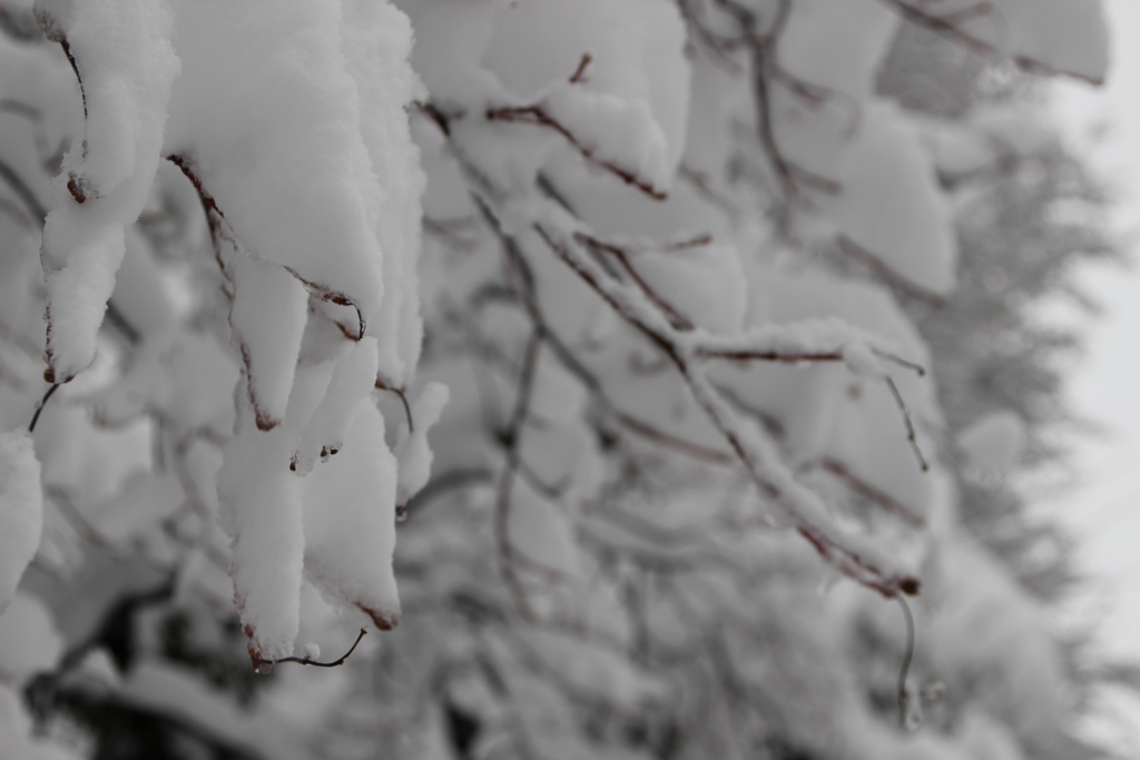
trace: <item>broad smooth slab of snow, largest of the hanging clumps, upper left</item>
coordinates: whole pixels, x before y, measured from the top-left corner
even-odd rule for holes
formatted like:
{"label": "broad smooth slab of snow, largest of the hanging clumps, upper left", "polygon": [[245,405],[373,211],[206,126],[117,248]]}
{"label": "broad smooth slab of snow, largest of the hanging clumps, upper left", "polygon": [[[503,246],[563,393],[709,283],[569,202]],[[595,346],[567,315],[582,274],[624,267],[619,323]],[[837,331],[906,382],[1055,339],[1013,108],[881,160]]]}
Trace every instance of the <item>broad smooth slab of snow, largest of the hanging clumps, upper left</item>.
{"label": "broad smooth slab of snow, largest of the hanging clumps, upper left", "polygon": [[253,258],[287,268],[319,297],[355,304],[367,324],[383,295],[375,230],[384,194],[361,136],[343,23],[336,0],[290,0],[268,15],[179,3],[182,75],[163,150],[186,157]]}

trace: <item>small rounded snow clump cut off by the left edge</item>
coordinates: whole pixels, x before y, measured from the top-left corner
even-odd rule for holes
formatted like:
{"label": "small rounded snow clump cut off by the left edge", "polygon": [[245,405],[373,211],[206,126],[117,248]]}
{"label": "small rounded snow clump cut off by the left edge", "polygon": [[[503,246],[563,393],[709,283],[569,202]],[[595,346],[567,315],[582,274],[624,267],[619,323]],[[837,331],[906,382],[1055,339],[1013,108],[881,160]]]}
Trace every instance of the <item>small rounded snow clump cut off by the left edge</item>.
{"label": "small rounded snow clump cut off by the left edge", "polygon": [[0,615],[40,546],[40,461],[24,432],[0,433]]}

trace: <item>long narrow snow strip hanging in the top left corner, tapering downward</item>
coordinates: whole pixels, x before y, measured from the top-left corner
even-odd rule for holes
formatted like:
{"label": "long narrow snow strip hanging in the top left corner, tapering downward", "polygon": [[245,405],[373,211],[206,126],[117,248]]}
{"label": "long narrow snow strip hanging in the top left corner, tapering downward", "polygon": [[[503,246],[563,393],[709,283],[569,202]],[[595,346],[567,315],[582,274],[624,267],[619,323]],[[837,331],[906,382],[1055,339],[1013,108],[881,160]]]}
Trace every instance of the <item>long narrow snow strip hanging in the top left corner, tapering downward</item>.
{"label": "long narrow snow strip hanging in the top left corner, tapering downward", "polygon": [[95,336],[161,158],[179,60],[165,2],[78,3],[56,19],[83,89],[82,140],[64,156],[43,230],[51,375],[67,382],[95,359]]}

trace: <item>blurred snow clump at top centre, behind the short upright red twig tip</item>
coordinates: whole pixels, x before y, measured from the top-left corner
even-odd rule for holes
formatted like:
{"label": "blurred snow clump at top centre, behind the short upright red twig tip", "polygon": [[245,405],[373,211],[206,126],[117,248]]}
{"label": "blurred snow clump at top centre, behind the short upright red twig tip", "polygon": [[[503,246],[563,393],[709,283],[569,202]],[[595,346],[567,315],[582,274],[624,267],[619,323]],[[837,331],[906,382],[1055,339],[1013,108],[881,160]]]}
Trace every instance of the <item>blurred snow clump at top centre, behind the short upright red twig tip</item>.
{"label": "blurred snow clump at top centre, behind the short upright red twig tip", "polygon": [[685,145],[684,41],[663,0],[523,0],[495,17],[482,63],[520,104],[542,99],[600,158],[667,190]]}

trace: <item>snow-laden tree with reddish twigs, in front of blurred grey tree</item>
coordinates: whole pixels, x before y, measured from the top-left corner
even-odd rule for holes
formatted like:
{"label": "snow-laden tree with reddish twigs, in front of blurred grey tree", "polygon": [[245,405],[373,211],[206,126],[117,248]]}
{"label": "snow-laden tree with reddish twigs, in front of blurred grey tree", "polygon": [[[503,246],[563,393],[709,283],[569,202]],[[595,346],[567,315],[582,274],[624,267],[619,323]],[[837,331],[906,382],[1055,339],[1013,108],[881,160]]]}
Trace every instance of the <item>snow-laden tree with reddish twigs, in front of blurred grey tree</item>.
{"label": "snow-laden tree with reddish twigs, in front of blurred grey tree", "polygon": [[33,729],[95,700],[271,758],[1092,757],[968,512],[1039,420],[927,337],[1056,139],[917,106],[912,30],[1108,60],[1088,0],[0,0],[0,754],[111,752]]}

